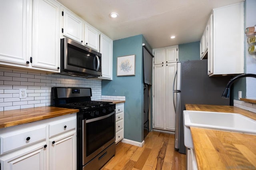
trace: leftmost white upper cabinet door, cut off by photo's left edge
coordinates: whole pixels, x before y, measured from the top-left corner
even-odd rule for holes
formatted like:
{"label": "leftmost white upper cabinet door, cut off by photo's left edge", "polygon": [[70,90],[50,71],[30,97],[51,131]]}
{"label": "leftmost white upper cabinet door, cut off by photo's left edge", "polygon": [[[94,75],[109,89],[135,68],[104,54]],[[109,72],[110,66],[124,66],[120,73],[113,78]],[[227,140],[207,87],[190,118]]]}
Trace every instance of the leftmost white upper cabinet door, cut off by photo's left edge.
{"label": "leftmost white upper cabinet door, cut off by photo's left edge", "polygon": [[26,65],[31,38],[32,14],[27,0],[0,2],[0,63]]}

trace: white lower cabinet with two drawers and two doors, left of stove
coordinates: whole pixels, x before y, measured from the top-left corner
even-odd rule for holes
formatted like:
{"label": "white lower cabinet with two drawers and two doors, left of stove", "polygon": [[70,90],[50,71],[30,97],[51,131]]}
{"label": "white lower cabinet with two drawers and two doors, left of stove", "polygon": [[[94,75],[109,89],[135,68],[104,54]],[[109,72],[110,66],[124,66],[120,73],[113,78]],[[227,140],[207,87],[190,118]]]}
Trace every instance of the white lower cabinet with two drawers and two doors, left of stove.
{"label": "white lower cabinet with two drawers and two doors, left of stove", "polygon": [[1,128],[0,162],[0,170],[76,170],[76,114]]}

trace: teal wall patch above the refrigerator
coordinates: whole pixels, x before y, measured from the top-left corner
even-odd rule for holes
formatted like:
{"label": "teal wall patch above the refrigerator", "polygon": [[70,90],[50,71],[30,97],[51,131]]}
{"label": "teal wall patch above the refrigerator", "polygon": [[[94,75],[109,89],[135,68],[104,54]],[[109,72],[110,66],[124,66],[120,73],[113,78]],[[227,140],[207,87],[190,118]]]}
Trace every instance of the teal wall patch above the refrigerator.
{"label": "teal wall patch above the refrigerator", "polygon": [[200,42],[179,45],[179,61],[200,60]]}

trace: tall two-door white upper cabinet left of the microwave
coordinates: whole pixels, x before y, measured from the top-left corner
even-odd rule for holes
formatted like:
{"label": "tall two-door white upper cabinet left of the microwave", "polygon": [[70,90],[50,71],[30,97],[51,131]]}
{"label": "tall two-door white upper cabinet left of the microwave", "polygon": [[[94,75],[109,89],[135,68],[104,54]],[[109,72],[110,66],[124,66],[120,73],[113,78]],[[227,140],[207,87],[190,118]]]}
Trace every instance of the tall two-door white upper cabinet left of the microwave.
{"label": "tall two-door white upper cabinet left of the microwave", "polygon": [[0,64],[6,67],[59,72],[58,2],[1,1],[0,15]]}

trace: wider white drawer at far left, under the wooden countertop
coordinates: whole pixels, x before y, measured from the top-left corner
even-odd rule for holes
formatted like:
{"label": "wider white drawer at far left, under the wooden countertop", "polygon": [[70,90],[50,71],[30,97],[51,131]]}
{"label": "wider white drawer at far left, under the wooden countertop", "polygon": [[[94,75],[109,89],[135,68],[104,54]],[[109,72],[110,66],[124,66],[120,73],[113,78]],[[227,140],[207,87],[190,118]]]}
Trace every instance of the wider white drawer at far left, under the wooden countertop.
{"label": "wider white drawer at far left, under the wooden countertop", "polygon": [[0,154],[46,139],[46,126],[32,127],[33,130],[14,131],[1,136]]}

